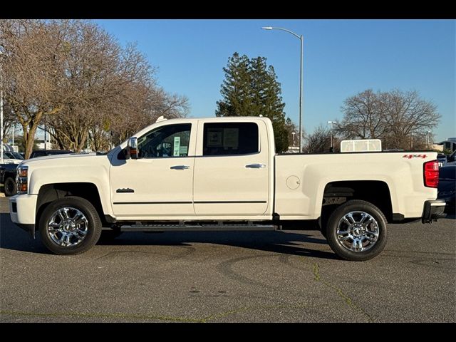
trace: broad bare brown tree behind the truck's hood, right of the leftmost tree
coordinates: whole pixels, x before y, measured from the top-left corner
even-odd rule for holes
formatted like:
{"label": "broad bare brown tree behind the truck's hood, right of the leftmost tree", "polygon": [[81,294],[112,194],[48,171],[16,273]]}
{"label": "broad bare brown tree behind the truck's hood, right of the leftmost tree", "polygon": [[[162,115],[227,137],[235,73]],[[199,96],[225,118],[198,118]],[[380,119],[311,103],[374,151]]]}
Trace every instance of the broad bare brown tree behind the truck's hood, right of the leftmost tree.
{"label": "broad bare brown tree behind the truck's hood, right of the leftmost tree", "polygon": [[128,138],[160,115],[187,115],[187,98],[158,87],[154,68],[134,45],[121,48],[86,21],[66,24],[65,87],[74,96],[50,118],[62,148],[80,151],[90,135],[94,150],[108,150],[111,138]]}

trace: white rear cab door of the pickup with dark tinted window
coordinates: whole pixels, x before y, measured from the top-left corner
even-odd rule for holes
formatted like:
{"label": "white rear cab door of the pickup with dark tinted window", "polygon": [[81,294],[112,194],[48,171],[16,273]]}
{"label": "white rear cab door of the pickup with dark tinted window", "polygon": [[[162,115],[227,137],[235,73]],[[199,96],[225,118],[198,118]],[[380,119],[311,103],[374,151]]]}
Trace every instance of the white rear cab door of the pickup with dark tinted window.
{"label": "white rear cab door of the pickup with dark tinted window", "polygon": [[193,188],[197,216],[264,214],[272,162],[263,121],[199,120]]}

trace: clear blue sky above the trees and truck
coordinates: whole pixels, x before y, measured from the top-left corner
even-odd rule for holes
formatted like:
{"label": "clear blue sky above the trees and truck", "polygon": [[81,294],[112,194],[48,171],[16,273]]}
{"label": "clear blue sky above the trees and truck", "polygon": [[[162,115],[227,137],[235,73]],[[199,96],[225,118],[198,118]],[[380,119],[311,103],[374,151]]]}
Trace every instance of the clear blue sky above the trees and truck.
{"label": "clear blue sky above the trees and truck", "polygon": [[456,137],[454,20],[96,20],[122,44],[138,43],[157,81],[186,95],[191,117],[215,115],[222,68],[236,51],[264,56],[281,83],[286,116],[299,122],[299,39],[304,35],[303,126],[341,120],[363,90],[418,90],[442,115],[435,141]]}

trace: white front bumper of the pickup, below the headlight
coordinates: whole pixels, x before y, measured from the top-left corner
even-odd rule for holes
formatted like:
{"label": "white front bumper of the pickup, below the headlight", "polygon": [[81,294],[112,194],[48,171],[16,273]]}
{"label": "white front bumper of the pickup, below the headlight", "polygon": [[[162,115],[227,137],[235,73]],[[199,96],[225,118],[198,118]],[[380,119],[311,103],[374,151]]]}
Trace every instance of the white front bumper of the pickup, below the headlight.
{"label": "white front bumper of the pickup, below the headlight", "polygon": [[16,195],[9,198],[11,221],[35,238],[35,214],[38,195]]}

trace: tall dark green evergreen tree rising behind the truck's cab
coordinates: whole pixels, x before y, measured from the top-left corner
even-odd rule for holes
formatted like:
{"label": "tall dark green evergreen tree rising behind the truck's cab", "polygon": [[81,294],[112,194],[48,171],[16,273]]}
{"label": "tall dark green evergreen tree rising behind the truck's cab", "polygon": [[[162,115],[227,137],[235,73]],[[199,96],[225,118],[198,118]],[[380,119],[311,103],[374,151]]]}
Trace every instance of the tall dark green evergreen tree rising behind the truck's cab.
{"label": "tall dark green evergreen tree rising behind the truck's cab", "polygon": [[266,58],[249,58],[234,53],[223,68],[222,100],[217,101],[217,116],[259,116],[271,119],[276,152],[289,147],[289,133],[285,123],[285,103],[273,66]]}

